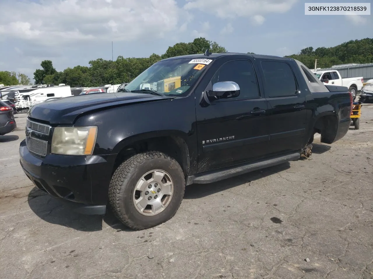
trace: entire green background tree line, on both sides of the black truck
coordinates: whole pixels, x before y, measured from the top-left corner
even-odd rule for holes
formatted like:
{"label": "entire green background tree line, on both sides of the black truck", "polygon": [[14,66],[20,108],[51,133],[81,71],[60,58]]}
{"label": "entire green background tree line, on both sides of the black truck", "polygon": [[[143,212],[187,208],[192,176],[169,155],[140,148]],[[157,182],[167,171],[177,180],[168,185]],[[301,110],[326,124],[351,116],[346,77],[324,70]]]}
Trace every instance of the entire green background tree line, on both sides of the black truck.
{"label": "entire green background tree line, on both sides of the black truck", "polygon": [[[119,56],[115,61],[99,58],[89,61],[88,67],[78,65],[63,71],[56,71],[52,61],[44,60],[41,62],[41,69],[35,70],[34,79],[35,84],[65,83],[71,87],[128,83],[159,60],[179,55],[204,53],[206,49],[214,53],[227,52],[225,47],[217,42],[200,37],[189,43],[177,43],[169,47],[162,55],[153,53],[145,58]],[[254,54],[253,52],[247,53]],[[330,48],[307,47],[297,54],[285,57],[297,59],[310,69],[314,68],[315,59],[317,59],[318,68],[327,68],[336,64],[373,63],[373,39],[351,40]],[[14,72],[5,71],[0,72],[1,83],[4,85],[29,84],[29,78],[23,74],[17,76]]]}

